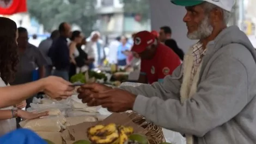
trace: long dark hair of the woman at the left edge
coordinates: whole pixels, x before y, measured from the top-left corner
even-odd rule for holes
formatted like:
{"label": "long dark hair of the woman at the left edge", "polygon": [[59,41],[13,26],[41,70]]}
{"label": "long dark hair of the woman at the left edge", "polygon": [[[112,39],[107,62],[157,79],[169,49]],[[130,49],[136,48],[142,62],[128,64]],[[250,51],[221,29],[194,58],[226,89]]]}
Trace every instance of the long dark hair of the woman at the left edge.
{"label": "long dark hair of the woman at the left edge", "polygon": [[12,82],[17,72],[16,31],[17,25],[13,20],[0,17],[0,76],[5,84]]}

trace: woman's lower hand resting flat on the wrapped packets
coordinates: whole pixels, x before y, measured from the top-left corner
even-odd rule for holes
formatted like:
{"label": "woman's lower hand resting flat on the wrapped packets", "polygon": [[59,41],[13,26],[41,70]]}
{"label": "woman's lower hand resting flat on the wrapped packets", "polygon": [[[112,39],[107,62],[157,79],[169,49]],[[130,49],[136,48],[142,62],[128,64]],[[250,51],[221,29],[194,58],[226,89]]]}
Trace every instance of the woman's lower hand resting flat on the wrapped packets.
{"label": "woman's lower hand resting flat on the wrapped packets", "polygon": [[21,117],[23,120],[32,120],[42,116],[48,116],[48,111],[40,112],[36,114],[35,112],[28,112],[25,110],[18,110],[18,117]]}

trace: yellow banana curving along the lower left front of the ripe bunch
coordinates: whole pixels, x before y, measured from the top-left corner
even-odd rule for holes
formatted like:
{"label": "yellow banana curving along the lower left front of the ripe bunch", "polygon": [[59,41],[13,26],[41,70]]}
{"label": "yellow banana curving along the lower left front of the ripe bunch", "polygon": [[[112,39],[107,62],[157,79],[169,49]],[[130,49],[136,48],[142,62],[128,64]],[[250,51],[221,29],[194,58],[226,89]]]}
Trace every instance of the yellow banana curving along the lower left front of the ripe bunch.
{"label": "yellow banana curving along the lower left front of the ripe bunch", "polygon": [[92,143],[105,144],[112,143],[119,137],[118,130],[116,129],[112,134],[107,136],[89,135],[88,138]]}

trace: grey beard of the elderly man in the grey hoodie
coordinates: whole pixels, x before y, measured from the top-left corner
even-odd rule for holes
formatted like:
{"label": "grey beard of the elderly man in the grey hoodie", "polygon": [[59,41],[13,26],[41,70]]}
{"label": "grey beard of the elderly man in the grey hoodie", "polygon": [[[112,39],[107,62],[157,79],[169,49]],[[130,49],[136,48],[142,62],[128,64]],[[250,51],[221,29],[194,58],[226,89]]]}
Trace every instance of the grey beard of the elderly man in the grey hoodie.
{"label": "grey beard of the elderly man in the grey hoodie", "polygon": [[214,28],[209,23],[209,17],[206,16],[200,23],[198,29],[192,33],[188,33],[187,37],[191,40],[202,40],[210,36]]}

